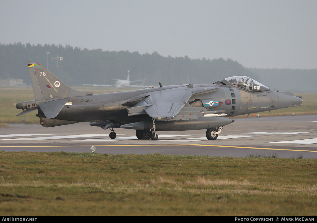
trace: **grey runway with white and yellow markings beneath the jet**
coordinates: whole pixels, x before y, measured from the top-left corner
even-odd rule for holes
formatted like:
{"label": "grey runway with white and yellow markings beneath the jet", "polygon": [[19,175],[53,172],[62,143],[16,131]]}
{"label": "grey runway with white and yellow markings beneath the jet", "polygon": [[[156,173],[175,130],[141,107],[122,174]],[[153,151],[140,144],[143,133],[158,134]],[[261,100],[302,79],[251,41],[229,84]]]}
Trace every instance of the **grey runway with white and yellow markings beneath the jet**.
{"label": "grey runway with white and yellow markings beneath the jet", "polygon": [[[233,118],[234,119],[234,118]],[[140,140],[135,130],[109,129],[89,123],[45,128],[33,124],[0,127],[0,151],[90,152],[108,154],[208,155],[248,157],[276,154],[280,158],[317,158],[317,115],[234,119],[216,140],[206,130],[157,132],[158,140]]]}

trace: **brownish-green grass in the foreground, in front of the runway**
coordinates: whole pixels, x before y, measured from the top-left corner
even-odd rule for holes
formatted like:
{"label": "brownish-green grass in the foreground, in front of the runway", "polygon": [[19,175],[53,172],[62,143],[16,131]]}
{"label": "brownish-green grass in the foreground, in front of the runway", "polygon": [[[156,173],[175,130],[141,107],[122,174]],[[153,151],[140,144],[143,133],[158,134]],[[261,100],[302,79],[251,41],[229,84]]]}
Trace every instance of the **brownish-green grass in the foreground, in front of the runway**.
{"label": "brownish-green grass in the foreground, in front of the runway", "polygon": [[315,159],[0,152],[1,216],[315,215]]}

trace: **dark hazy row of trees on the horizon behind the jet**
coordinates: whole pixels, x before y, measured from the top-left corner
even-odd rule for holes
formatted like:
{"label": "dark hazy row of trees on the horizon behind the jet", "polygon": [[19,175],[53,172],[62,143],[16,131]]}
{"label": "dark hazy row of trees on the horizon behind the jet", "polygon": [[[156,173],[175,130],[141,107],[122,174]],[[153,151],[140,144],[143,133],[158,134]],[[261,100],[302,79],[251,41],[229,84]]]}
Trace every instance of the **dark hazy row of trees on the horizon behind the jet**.
{"label": "dark hazy row of trees on the horizon behind the jet", "polygon": [[[46,52],[50,52],[47,54]],[[0,45],[0,77],[23,79],[29,83],[27,61],[40,63],[68,85],[114,84],[113,78],[146,79],[146,84],[214,83],[234,75],[256,76],[231,59],[190,59],[163,57],[157,52],[140,54],[129,51],[88,50],[73,46],[44,46],[14,43]]]}

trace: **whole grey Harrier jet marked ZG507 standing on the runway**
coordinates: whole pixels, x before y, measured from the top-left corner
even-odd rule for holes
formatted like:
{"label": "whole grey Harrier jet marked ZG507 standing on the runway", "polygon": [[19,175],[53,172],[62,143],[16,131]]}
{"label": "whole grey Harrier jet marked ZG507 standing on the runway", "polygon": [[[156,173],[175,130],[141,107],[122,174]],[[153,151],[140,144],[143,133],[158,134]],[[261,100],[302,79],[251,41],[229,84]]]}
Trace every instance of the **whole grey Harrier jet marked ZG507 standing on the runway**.
{"label": "whole grey Harrier jet marked ZG507 standing on the runway", "polygon": [[207,129],[217,139],[236,115],[300,106],[303,100],[289,92],[275,92],[244,76],[214,84],[180,84],[93,95],[74,90],[44,66],[29,61],[34,101],[19,102],[18,115],[37,110],[44,127],[90,122],[91,126],[136,130],[138,139],[158,139],[158,131]]}

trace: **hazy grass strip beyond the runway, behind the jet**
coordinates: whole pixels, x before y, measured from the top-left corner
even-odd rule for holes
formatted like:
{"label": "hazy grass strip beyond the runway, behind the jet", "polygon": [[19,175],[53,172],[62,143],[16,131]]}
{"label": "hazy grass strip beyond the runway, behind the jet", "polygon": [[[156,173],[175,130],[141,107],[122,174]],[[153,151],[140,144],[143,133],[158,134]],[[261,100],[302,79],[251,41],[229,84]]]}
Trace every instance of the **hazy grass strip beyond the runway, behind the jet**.
{"label": "hazy grass strip beyond the runway, behind the jet", "polygon": [[[76,88],[76,90],[91,91],[91,87],[83,86],[81,88]],[[122,90],[133,90],[133,88],[96,88],[93,93],[109,93]],[[5,125],[5,123],[39,123],[39,118],[36,117],[36,111],[30,112],[27,115],[15,116],[19,114],[22,110],[18,110],[15,104],[18,102],[32,101],[34,100],[32,88],[28,89],[17,89],[17,88],[0,88],[0,103],[2,108],[0,109],[0,126]],[[301,93],[295,94],[296,96],[302,96],[304,102],[302,106],[293,108],[284,108],[280,110],[261,112],[261,116],[277,116],[277,115],[311,115],[317,114],[317,93]],[[233,117],[242,118],[247,117],[247,115],[240,115]],[[250,117],[254,117],[254,114],[250,114]]]}

